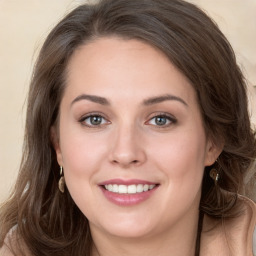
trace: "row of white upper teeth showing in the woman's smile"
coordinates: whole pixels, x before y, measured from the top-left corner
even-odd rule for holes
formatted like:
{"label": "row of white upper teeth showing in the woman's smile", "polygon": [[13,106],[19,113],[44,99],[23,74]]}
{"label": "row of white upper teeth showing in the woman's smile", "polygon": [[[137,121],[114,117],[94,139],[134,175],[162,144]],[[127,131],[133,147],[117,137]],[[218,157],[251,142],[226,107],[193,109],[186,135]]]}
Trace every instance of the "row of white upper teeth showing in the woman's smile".
{"label": "row of white upper teeth showing in the woman's smile", "polygon": [[105,189],[119,194],[136,194],[149,191],[153,189],[156,185],[148,185],[148,184],[138,184],[138,185],[117,185],[117,184],[108,184],[105,185]]}

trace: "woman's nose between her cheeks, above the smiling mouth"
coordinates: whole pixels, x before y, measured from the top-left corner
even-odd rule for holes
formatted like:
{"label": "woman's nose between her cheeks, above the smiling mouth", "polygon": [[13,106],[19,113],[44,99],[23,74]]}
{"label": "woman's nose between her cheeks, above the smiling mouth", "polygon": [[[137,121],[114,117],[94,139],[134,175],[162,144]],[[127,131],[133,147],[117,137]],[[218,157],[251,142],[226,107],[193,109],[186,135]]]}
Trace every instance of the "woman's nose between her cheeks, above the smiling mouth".
{"label": "woman's nose between her cheeks, above the smiling mouth", "polygon": [[146,161],[144,147],[139,131],[135,127],[123,125],[115,131],[110,161],[122,168],[140,166]]}

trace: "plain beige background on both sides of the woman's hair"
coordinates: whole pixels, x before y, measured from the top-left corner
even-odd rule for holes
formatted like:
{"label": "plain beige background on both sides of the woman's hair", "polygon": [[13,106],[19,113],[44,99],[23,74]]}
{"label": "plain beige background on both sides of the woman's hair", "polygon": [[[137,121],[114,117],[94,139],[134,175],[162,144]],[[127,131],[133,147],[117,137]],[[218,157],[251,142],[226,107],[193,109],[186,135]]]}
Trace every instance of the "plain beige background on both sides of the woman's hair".
{"label": "plain beige background on both sides of the woman's hair", "polygon": [[[53,25],[82,2],[0,0],[0,202],[9,194],[19,168],[25,98],[38,49]],[[190,2],[204,8],[233,45],[249,81],[256,124],[256,0]]]}

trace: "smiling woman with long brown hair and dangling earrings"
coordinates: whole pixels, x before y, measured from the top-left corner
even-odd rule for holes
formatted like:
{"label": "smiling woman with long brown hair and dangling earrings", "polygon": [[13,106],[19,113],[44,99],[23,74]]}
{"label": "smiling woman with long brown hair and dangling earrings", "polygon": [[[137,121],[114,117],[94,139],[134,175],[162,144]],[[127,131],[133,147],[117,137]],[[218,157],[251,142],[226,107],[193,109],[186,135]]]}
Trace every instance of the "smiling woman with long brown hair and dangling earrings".
{"label": "smiling woman with long brown hair and dangling earrings", "polygon": [[[253,255],[256,158],[231,46],[181,0],[103,0],[46,39],[3,255]],[[253,182],[253,181],[252,181]]]}

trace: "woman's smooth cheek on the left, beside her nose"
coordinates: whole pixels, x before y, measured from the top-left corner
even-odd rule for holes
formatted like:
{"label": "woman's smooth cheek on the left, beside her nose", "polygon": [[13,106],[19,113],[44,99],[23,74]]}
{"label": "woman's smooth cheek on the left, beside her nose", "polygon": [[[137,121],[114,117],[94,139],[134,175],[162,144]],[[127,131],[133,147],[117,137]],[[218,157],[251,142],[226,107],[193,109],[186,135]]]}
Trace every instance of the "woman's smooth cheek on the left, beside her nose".
{"label": "woman's smooth cheek on the left, beside her nose", "polygon": [[66,185],[76,200],[79,194],[88,193],[95,174],[106,159],[106,145],[100,135],[88,135],[83,129],[62,126],[60,147]]}

